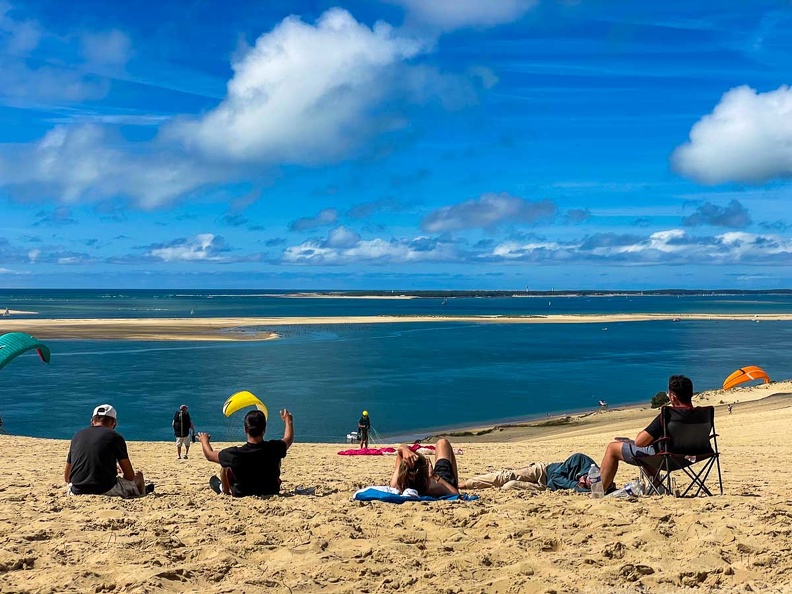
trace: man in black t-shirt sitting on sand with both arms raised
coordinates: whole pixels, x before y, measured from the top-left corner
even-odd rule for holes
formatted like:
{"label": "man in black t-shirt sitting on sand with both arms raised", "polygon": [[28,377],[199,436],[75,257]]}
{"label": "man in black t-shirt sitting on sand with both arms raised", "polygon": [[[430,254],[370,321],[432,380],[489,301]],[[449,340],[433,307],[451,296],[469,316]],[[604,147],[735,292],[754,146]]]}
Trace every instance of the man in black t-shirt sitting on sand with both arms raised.
{"label": "man in black t-shirt sitting on sand with both arms raised", "polygon": [[[234,497],[248,495],[276,495],[280,491],[280,464],[286,451],[294,443],[294,421],[288,410],[280,411],[285,428],[282,439],[264,441],[267,417],[260,410],[245,415],[247,443],[220,450],[212,449],[211,435],[199,433],[201,449],[210,462],[216,462],[220,470],[220,482],[209,481],[217,492]],[[212,477],[217,479],[217,477]]]}

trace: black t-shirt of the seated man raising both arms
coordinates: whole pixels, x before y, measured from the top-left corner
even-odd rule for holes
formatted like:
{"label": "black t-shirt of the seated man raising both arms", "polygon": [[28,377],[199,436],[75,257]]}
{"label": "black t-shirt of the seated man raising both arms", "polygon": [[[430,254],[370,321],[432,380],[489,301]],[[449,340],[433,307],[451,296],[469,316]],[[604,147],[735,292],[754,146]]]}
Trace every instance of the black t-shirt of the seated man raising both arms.
{"label": "black t-shirt of the seated man raising both arms", "polygon": [[286,457],[286,443],[272,439],[220,451],[220,466],[230,468],[235,497],[274,495],[280,491],[280,461]]}

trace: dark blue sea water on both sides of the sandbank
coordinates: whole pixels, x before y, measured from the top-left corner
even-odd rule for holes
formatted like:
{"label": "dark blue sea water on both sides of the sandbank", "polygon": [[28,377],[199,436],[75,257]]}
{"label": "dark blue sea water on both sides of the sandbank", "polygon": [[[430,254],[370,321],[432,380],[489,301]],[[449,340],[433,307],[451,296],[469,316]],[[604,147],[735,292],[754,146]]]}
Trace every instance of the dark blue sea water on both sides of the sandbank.
{"label": "dark blue sea water on both sides of the sandbank", "polygon": [[[29,317],[547,315],[789,313],[792,296],[610,296],[394,299],[283,298],[270,291],[0,290],[0,311]],[[15,316],[15,319],[25,316]],[[0,318],[0,333],[2,333]],[[368,410],[384,439],[648,402],[673,373],[696,390],[744,365],[790,377],[792,322],[293,325],[266,342],[49,340],[52,362],[28,354],[0,371],[8,433],[69,438],[94,406],[119,411],[128,440],[170,440],[188,404],[198,430],[243,436],[225,399],[250,390],[270,409],[269,437],[294,414],[298,441],[338,442]]]}

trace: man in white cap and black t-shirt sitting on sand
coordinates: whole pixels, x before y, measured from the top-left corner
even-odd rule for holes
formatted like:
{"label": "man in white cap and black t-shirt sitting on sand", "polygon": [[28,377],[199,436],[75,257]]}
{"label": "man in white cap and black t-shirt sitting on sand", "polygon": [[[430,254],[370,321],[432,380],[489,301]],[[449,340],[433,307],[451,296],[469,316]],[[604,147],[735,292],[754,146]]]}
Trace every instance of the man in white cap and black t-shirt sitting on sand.
{"label": "man in white cap and black t-shirt sitting on sand", "polygon": [[[63,471],[72,495],[128,498],[147,493],[143,473],[132,468],[126,441],[115,431],[117,424],[116,409],[101,404],[94,409],[91,426],[72,438]],[[123,476],[116,475],[117,468]]]}

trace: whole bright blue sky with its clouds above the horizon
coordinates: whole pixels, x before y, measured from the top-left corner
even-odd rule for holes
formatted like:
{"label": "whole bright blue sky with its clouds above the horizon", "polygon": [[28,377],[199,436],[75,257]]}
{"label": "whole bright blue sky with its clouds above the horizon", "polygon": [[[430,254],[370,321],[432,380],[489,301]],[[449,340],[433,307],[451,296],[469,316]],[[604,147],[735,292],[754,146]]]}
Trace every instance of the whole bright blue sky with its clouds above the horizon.
{"label": "whole bright blue sky with its clouds above the horizon", "polygon": [[792,281],[792,3],[0,0],[0,288]]}

